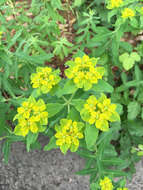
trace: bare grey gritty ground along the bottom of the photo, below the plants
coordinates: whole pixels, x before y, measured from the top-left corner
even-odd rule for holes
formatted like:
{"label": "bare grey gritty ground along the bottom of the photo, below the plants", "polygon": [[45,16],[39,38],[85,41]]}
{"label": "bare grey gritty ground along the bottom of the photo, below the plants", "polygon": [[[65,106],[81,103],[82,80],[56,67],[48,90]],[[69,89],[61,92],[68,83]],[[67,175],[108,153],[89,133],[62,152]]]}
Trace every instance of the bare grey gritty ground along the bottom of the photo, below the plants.
{"label": "bare grey gritty ground along the bottom of the photo, below the plants", "polygon": [[[76,154],[66,156],[59,150],[26,152],[22,143],[12,146],[9,163],[0,161],[0,190],[89,190],[88,176],[74,172],[84,167]],[[129,190],[143,190],[143,161],[129,183]]]}

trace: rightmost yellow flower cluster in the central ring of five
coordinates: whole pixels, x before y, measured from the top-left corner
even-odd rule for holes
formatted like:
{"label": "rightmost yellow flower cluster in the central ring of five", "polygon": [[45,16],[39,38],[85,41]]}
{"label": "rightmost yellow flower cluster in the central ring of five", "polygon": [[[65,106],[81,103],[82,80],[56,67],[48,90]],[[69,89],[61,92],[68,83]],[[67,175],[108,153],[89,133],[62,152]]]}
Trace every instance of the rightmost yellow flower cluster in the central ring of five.
{"label": "rightmost yellow flower cluster in the central ring of five", "polygon": [[96,99],[94,95],[90,96],[80,114],[84,121],[91,125],[95,124],[96,128],[101,131],[108,131],[108,121],[120,120],[120,116],[116,112],[116,105],[111,104],[111,100],[105,94],[102,94],[99,99]]}

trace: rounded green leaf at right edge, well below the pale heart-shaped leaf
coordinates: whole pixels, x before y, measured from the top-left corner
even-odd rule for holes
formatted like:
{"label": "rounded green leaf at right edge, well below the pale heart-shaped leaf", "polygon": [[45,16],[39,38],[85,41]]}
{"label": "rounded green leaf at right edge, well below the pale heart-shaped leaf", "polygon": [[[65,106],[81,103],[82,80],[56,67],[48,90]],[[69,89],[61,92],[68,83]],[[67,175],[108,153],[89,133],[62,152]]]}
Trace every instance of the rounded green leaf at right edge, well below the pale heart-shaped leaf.
{"label": "rounded green leaf at right edge, well below the pale heart-shaped leaf", "polygon": [[128,119],[134,120],[136,119],[137,115],[140,113],[140,104],[136,101],[130,102],[128,105]]}

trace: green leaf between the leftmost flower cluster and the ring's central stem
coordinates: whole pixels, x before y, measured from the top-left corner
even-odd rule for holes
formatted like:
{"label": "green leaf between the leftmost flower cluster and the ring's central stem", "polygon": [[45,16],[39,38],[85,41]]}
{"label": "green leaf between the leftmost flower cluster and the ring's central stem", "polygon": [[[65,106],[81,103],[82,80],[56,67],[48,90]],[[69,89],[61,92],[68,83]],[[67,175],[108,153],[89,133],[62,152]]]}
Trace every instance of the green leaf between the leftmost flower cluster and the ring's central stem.
{"label": "green leaf between the leftmost flower cluster and the ring's central stem", "polygon": [[59,103],[46,104],[46,110],[48,112],[48,118],[53,117],[63,109],[64,105]]}

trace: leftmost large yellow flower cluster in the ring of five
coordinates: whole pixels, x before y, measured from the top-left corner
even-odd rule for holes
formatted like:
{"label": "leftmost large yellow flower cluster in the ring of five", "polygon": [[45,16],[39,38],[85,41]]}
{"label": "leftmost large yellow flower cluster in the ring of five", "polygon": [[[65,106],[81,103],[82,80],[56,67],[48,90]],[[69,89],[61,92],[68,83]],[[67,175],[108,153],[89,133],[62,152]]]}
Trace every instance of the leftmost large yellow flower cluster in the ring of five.
{"label": "leftmost large yellow flower cluster in the ring of five", "polygon": [[20,136],[26,136],[29,131],[32,133],[43,132],[48,123],[48,112],[46,105],[42,99],[37,102],[33,97],[22,103],[17,109],[14,120],[18,120],[18,125],[14,129],[14,133]]}

